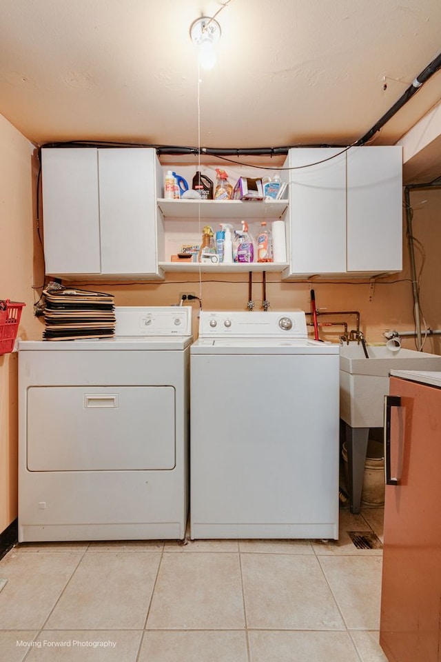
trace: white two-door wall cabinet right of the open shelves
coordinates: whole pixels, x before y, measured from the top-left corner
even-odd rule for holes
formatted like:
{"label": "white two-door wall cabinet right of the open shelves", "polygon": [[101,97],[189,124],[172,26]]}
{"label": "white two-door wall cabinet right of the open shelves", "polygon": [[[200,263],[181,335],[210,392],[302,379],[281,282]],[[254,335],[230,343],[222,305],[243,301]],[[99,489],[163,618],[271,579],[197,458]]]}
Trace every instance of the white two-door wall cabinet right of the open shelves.
{"label": "white two-door wall cabinet right of the open shelves", "polygon": [[289,167],[284,277],[402,269],[400,147],[291,149]]}

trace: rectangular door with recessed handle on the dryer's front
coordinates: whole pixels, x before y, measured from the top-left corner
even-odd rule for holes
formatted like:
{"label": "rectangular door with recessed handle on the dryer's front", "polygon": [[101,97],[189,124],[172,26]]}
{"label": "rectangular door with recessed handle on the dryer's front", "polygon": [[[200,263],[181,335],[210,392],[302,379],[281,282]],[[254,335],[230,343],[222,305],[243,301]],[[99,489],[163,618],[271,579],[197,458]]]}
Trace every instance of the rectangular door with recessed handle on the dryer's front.
{"label": "rectangular door with recessed handle on the dryer's front", "polygon": [[172,386],[38,386],[28,390],[30,471],[170,470]]}

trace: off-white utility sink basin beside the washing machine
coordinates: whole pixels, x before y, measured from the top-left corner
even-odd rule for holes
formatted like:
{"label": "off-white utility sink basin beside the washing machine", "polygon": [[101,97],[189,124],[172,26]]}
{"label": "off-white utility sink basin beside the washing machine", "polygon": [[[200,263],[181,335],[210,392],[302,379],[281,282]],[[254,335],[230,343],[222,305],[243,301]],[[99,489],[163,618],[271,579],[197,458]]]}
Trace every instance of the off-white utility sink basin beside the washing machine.
{"label": "off-white utility sink basin beside the washing machine", "polygon": [[351,428],[382,428],[390,370],[441,370],[441,356],[386,345],[340,347],[340,418]]}

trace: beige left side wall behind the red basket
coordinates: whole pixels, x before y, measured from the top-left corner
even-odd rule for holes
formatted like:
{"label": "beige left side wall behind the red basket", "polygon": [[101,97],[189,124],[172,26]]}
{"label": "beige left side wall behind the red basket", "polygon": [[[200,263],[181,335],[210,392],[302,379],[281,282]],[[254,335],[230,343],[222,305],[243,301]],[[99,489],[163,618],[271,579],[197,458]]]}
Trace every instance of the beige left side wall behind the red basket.
{"label": "beige left side wall behind the red basket", "polygon": [[[32,144],[0,115],[0,299],[26,303],[19,334],[32,316]],[[17,517],[17,353],[0,356],[0,532]]]}

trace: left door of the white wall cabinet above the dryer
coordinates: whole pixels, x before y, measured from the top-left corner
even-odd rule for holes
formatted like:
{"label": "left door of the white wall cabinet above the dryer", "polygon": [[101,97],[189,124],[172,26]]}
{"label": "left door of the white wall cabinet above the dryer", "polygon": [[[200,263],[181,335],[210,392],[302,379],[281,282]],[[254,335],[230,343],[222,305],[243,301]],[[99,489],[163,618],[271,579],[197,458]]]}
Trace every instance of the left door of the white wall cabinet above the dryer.
{"label": "left door of the white wall cabinet above the dryer", "polygon": [[96,149],[43,149],[43,232],[47,274],[99,274]]}

